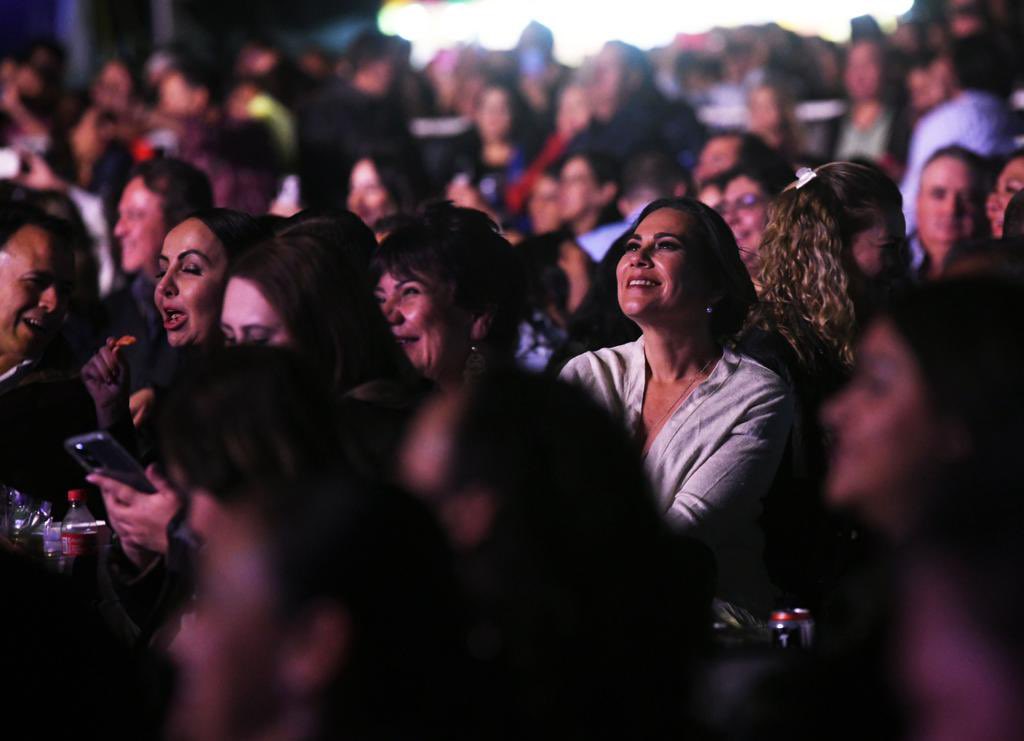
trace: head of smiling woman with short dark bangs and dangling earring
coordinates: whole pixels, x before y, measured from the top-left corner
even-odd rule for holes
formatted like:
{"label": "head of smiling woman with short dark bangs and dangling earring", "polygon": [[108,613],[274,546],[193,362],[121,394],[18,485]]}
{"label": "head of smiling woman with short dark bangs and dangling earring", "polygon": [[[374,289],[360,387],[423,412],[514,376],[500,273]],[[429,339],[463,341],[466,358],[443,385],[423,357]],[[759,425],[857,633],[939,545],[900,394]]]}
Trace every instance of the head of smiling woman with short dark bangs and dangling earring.
{"label": "head of smiling woman with short dark bangs and dangling earring", "polygon": [[512,362],[522,265],[482,212],[428,206],[381,243],[371,270],[395,340],[413,366],[441,389]]}

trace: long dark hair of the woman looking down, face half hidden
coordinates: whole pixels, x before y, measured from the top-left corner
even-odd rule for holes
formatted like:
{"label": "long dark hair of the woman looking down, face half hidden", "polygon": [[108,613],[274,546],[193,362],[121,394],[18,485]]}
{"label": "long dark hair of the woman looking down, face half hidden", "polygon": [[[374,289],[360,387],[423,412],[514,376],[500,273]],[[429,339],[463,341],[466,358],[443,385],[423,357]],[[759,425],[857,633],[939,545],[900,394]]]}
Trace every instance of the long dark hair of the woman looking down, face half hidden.
{"label": "long dark hair of the woman looking down, face half hidden", "polygon": [[231,265],[228,277],[256,285],[299,351],[325,366],[339,395],[407,373],[366,277],[312,237],[264,242]]}

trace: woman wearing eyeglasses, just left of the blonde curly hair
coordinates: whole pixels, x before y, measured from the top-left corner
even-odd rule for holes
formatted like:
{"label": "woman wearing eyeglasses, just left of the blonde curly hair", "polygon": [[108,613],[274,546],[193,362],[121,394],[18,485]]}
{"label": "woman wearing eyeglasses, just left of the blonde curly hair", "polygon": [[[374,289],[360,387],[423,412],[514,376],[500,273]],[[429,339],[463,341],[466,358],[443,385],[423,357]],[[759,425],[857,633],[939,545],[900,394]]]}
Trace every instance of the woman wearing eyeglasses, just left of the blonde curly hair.
{"label": "woman wearing eyeglasses, just left of the blonde curly hair", "polygon": [[720,190],[721,195],[711,206],[732,229],[739,248],[739,257],[751,274],[754,288],[759,292],[759,249],[765,226],[768,225],[768,207],[792,180],[793,171],[781,163],[766,163],[764,166],[740,163],[706,185]]}

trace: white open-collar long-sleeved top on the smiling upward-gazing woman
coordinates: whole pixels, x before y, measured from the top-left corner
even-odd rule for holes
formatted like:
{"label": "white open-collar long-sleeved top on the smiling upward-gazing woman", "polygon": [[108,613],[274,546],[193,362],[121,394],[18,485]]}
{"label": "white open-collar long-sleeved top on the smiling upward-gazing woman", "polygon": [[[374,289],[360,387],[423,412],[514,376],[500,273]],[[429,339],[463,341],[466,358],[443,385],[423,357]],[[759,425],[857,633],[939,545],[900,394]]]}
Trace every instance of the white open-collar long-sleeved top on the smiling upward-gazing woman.
{"label": "white open-collar long-sleeved top on the smiling upward-gazing woman", "polygon": [[[587,388],[631,433],[639,429],[647,382],[642,337],[572,358],[561,378]],[[725,348],[645,456],[670,522],[714,552],[719,597],[756,614],[773,606],[758,519],[793,415],[793,391],[778,375]]]}

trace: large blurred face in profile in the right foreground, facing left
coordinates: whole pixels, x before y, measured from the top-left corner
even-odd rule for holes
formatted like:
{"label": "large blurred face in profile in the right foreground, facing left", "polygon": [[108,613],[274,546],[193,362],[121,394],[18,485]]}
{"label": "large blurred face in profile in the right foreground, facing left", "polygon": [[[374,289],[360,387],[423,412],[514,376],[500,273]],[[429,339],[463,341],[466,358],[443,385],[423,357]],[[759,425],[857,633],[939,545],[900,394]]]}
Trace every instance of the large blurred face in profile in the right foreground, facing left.
{"label": "large blurred face in profile in the right foreground, facing left", "polygon": [[822,421],[835,435],[829,504],[900,536],[918,492],[950,449],[921,368],[890,322],[867,331],[853,378],[824,406]]}

